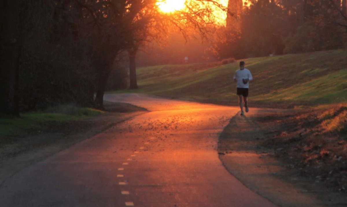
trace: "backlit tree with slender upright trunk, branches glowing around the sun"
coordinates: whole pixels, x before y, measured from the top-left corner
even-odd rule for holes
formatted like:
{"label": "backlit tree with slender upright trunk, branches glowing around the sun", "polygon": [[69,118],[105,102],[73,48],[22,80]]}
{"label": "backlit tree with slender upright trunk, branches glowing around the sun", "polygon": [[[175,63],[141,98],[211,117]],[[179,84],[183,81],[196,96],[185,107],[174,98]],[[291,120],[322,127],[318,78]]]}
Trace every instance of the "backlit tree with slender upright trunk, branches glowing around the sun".
{"label": "backlit tree with slender upright trunk, branches glowing around the sun", "polygon": [[222,12],[233,13],[227,7],[214,0],[191,0],[185,3],[185,9],[173,13],[160,12],[156,1],[148,3],[143,10],[139,10],[133,24],[137,26],[131,34],[131,47],[128,49],[130,87],[137,89],[136,79],[136,54],[144,42],[158,41],[160,36],[169,30],[179,30],[184,38],[189,39],[196,31],[202,39],[215,31],[217,18],[213,11],[218,9]]}

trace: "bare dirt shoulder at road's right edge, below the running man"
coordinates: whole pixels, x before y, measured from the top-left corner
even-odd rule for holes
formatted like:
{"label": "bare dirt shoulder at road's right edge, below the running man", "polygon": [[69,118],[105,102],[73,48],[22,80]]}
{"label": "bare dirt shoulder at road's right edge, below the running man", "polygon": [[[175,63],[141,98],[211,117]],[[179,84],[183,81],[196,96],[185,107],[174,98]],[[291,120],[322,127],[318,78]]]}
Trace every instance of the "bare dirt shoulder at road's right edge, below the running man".
{"label": "bare dirt shoulder at road's right edge, below the running man", "polygon": [[[295,130],[300,122],[292,118],[300,113],[305,111],[251,109],[246,116],[232,117],[219,137],[222,163],[248,188],[279,206],[347,206],[343,190],[327,186],[320,177],[303,174],[305,169],[290,163],[299,162],[286,152],[292,146],[278,141],[290,139],[287,135],[293,134],[288,129]],[[268,144],[272,139],[278,141],[276,147]],[[305,152],[297,151],[297,155]]]}

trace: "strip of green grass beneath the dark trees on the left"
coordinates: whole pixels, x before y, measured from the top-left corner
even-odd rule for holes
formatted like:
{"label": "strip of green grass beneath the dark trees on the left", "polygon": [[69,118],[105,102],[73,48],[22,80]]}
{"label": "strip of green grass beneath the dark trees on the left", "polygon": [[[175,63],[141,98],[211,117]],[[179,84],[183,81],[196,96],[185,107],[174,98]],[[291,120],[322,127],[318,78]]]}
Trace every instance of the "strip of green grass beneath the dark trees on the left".
{"label": "strip of green grass beneath the dark trees on the left", "polygon": [[0,118],[0,137],[27,135],[44,130],[53,122],[78,121],[101,113],[103,111],[91,108],[60,105],[45,111],[20,114],[19,118],[3,117]]}

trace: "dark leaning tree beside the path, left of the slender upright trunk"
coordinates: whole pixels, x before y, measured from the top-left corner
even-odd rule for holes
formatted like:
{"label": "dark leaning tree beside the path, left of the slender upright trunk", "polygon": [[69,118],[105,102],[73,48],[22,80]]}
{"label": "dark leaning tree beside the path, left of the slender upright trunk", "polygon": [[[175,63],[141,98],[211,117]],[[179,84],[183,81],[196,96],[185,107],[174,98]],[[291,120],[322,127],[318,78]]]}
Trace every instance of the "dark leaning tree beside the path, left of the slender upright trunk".
{"label": "dark leaning tree beside the path, left of the slender upright trunk", "polygon": [[91,42],[89,53],[97,73],[95,104],[99,108],[103,106],[103,96],[113,62],[122,51],[130,47],[133,20],[147,2],[154,1],[71,1],[82,14],[84,32]]}

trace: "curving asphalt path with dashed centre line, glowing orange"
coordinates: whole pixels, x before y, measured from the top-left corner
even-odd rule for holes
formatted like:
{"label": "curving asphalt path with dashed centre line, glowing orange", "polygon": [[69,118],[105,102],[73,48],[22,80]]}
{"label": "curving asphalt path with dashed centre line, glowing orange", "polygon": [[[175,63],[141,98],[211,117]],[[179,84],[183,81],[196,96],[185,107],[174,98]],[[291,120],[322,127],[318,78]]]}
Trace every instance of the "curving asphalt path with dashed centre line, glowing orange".
{"label": "curving asphalt path with dashed centre line, glowing orange", "polygon": [[105,100],[150,112],[10,177],[0,186],[1,207],[276,206],[230,175],[218,158],[219,133],[237,107],[138,94]]}

